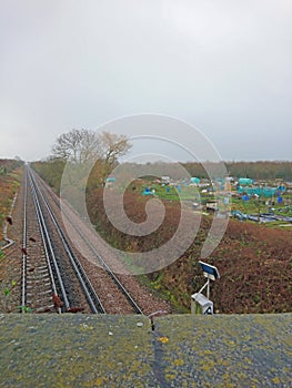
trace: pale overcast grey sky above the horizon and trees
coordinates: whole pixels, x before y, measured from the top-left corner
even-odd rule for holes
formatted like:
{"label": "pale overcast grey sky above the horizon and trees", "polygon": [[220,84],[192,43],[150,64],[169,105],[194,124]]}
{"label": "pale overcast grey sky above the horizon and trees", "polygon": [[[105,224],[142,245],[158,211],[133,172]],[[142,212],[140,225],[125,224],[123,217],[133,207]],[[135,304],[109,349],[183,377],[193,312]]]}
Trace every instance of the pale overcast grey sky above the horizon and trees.
{"label": "pale overcast grey sky above the horizon and trees", "polygon": [[291,21],[291,0],[0,0],[0,157],[159,113],[223,160],[292,160]]}

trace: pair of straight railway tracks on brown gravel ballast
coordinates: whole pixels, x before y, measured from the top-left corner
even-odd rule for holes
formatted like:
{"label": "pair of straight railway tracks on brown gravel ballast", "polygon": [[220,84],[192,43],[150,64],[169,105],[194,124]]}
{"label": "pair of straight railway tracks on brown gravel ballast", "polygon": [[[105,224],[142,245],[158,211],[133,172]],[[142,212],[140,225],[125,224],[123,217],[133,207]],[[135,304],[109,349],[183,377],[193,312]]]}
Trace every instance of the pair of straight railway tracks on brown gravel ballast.
{"label": "pair of straight railway tracks on brown gravel ballast", "polygon": [[29,166],[23,202],[22,312],[29,308],[34,313],[143,314],[72,219],[72,213],[66,212],[79,238],[99,262],[90,269],[83,267],[90,263],[80,257],[63,231],[58,197]]}

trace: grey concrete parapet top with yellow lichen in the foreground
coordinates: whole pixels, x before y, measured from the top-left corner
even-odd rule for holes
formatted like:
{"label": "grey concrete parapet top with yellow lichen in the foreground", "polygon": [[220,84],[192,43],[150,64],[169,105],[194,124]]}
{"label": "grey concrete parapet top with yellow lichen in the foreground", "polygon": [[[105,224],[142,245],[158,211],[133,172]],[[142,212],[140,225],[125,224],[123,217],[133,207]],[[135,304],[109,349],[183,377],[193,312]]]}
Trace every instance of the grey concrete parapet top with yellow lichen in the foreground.
{"label": "grey concrete parapet top with yellow lichen in the foreground", "polygon": [[0,315],[0,387],[290,387],[291,318]]}

